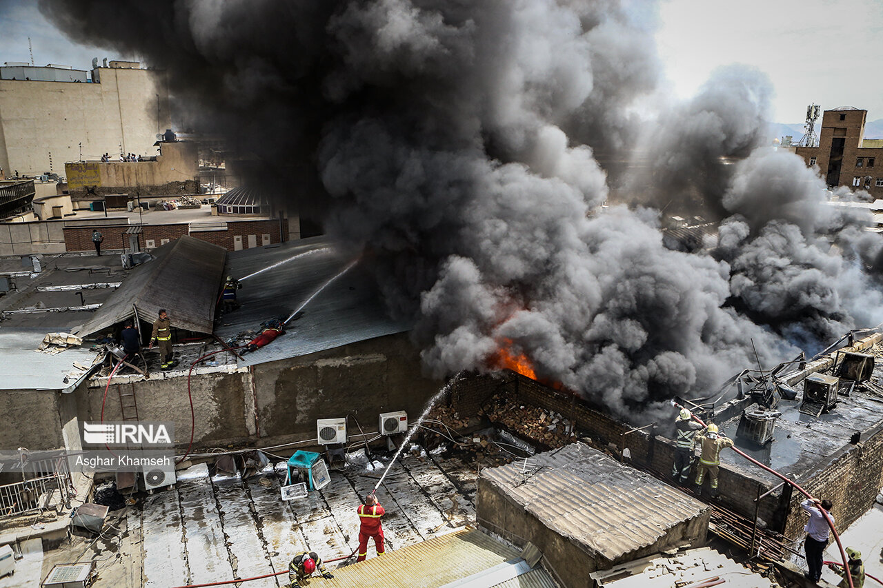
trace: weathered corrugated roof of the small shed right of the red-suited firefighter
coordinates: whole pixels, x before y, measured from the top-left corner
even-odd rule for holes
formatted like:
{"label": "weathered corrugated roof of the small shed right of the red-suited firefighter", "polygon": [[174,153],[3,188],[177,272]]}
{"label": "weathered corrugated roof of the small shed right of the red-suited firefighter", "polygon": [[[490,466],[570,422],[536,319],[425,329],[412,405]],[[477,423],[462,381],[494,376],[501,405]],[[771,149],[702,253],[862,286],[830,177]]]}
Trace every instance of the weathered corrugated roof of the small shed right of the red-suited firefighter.
{"label": "weathered corrugated roof of the small shed right of the red-suited firefighter", "polygon": [[652,545],[669,528],[708,507],[585,443],[534,456],[526,481],[521,462],[481,477],[549,529],[608,560]]}

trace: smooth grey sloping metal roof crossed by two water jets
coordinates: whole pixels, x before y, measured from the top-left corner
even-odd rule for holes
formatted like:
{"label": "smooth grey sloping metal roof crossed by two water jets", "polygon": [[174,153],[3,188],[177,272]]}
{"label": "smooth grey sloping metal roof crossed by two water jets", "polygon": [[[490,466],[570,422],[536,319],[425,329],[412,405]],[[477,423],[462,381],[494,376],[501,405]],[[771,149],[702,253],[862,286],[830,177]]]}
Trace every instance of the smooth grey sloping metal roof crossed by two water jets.
{"label": "smooth grey sloping metal roof crossed by two water jets", "polygon": [[[242,283],[241,307],[223,316],[215,334],[227,340],[256,331],[273,317],[287,319],[351,261],[351,255],[336,250],[327,237],[230,253],[227,274]],[[321,290],[303,316],[289,323],[285,335],[245,354],[239,366],[325,351],[410,328],[389,318],[374,276],[357,265]]]}

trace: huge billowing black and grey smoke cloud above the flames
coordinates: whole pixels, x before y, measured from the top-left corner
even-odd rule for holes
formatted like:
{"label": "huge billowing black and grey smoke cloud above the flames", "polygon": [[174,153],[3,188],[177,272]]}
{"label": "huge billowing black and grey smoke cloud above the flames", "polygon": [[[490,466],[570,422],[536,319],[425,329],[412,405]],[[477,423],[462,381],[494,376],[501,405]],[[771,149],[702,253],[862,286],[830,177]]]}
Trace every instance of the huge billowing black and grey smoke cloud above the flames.
{"label": "huge billowing black and grey smoke cloud above the flames", "polygon": [[[772,366],[873,319],[850,289],[873,288],[879,245],[795,156],[758,151],[763,74],[723,69],[638,119],[660,70],[650,4],[41,5],[166,69],[193,125],[367,248],[434,376],[493,369],[511,342],[540,378],[642,421],[753,366],[752,341]],[[644,206],[600,207],[611,185]],[[714,255],[662,245],[670,202],[726,219]]]}

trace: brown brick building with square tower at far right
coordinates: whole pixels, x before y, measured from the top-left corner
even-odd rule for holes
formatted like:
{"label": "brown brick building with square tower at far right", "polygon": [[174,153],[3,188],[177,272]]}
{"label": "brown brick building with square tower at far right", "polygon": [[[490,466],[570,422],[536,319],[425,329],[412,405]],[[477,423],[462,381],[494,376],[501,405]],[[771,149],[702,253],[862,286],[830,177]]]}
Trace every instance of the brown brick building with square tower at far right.
{"label": "brown brick building with square tower at far right", "polygon": [[819,147],[796,147],[795,153],[818,167],[827,185],[883,198],[883,147],[864,139],[867,116],[867,110],[850,107],[826,110]]}

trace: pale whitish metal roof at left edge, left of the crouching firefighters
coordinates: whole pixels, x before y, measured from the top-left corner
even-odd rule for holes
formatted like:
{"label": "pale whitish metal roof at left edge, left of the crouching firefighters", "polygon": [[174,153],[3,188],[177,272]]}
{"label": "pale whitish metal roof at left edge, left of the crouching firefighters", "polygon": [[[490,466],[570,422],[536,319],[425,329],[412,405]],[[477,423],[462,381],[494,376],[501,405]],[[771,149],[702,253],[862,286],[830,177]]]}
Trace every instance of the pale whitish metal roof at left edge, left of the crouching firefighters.
{"label": "pale whitish metal roof at left edge, left of the crouching firefighters", "polygon": [[62,390],[75,381],[64,382],[64,376],[77,371],[74,362],[92,365],[95,354],[81,347],[55,355],[35,351],[46,334],[44,329],[0,328],[0,389]]}

